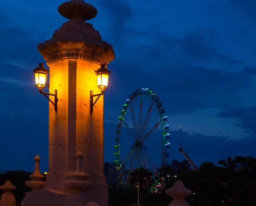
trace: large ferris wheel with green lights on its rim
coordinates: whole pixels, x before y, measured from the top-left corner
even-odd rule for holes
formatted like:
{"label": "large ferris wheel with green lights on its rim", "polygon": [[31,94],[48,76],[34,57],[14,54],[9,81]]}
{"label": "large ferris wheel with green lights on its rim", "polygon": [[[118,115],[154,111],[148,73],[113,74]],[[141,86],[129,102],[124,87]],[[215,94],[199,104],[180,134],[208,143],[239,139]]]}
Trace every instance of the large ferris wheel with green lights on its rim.
{"label": "large ferris wheel with green lights on its rim", "polygon": [[144,166],[157,176],[156,166],[168,164],[170,134],[162,105],[156,93],[147,88],[133,91],[123,104],[114,145],[119,179],[116,188],[129,186],[134,169]]}

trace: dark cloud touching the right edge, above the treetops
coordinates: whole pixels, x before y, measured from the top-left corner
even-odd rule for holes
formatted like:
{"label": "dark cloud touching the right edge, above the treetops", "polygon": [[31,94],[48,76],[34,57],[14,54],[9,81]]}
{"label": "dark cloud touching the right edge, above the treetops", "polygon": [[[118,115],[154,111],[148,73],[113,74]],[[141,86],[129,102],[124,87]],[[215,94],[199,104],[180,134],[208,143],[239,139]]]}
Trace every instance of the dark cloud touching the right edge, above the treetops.
{"label": "dark cloud touching the right edge, above the treetops", "polygon": [[[235,124],[250,135],[255,135],[256,133],[256,106],[252,107],[235,107],[232,109],[223,109],[217,116],[223,118],[236,118],[240,122]],[[253,133],[252,133],[253,132]]]}

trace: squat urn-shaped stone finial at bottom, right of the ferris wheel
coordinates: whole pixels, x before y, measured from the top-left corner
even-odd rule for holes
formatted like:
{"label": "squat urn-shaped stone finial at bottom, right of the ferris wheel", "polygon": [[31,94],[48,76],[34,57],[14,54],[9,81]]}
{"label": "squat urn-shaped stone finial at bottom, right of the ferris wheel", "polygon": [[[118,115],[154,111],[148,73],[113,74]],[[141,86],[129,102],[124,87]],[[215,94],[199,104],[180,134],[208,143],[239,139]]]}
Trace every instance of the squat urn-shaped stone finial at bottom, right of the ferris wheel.
{"label": "squat urn-shaped stone finial at bottom, right of the ferris wheel", "polygon": [[173,198],[169,206],[189,206],[185,198],[192,194],[190,189],[187,189],[181,181],[174,183],[173,187],[166,189],[166,194]]}

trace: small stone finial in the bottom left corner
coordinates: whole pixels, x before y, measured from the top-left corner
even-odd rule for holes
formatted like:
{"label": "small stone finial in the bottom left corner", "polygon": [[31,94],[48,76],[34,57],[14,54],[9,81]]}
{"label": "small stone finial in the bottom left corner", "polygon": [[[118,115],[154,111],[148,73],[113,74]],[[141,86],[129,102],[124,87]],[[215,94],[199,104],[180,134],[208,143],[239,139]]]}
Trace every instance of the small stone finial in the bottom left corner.
{"label": "small stone finial in the bottom left corner", "polygon": [[15,190],[16,187],[8,180],[4,185],[0,186],[0,189],[4,192],[0,200],[0,205],[16,206],[15,196],[12,194],[12,191]]}

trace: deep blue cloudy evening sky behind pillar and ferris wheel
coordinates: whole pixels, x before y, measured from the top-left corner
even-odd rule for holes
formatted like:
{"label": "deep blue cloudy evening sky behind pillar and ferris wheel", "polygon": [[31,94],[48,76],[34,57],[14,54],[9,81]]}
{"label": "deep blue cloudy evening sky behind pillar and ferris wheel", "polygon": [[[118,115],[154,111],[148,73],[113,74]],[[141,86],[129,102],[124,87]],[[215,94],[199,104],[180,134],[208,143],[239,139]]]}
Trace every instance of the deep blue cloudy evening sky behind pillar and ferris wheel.
{"label": "deep blue cloudy evening sky behind pillar and ferris wheel", "polygon": [[[48,164],[48,100],[32,69],[38,43],[67,19],[63,0],[0,2],[0,171],[41,172]],[[105,161],[113,161],[116,122],[132,91],[157,93],[169,117],[170,160],[217,163],[256,156],[255,0],[87,0],[88,21],[113,45],[105,92]],[[128,152],[128,151],[122,151]]]}

